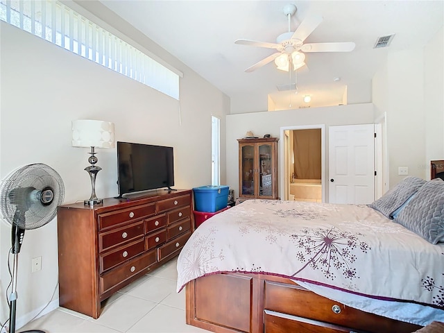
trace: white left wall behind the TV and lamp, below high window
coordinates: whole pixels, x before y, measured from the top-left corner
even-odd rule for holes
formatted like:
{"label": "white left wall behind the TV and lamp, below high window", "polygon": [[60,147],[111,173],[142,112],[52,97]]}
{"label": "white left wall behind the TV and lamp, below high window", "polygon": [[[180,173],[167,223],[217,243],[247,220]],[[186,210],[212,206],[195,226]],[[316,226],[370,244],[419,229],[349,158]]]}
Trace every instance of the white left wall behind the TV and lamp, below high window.
{"label": "white left wall behind the TV and lamp, below high window", "polygon": [[[180,103],[155,89],[76,56],[4,22],[1,26],[0,177],[25,164],[44,163],[62,177],[65,203],[89,198],[87,148],[71,147],[71,120],[115,124],[119,141],[174,147],[175,188],[211,183],[211,115],[221,117],[221,180],[225,182],[225,114],[230,100],[168,53],[184,73]],[[180,105],[180,108],[179,108]],[[180,111],[179,111],[180,110]],[[181,123],[179,121],[181,114]],[[99,150],[96,194],[117,195],[117,153]],[[8,318],[5,290],[10,225],[0,223],[0,321]],[[19,254],[17,326],[49,302],[58,282],[57,221],[28,230]],[[31,273],[31,259],[42,271]],[[57,306],[58,292],[55,296]]]}

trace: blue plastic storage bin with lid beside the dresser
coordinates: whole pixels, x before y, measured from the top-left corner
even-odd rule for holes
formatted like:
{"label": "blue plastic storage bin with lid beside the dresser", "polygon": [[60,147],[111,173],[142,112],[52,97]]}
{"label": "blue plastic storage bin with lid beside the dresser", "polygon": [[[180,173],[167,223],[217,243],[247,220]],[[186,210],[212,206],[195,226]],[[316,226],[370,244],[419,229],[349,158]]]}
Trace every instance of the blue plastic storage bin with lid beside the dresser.
{"label": "blue plastic storage bin with lid beside the dresser", "polygon": [[198,212],[214,213],[228,206],[228,186],[194,187],[193,193],[194,205]]}

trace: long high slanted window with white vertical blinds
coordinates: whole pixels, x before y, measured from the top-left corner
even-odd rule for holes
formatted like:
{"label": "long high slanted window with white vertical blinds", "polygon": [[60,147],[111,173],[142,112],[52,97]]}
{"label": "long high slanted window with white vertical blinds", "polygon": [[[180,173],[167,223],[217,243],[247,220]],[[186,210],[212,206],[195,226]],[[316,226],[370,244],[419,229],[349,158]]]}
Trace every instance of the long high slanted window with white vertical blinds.
{"label": "long high slanted window with white vertical blinds", "polygon": [[0,0],[0,19],[179,99],[181,74],[59,1]]}

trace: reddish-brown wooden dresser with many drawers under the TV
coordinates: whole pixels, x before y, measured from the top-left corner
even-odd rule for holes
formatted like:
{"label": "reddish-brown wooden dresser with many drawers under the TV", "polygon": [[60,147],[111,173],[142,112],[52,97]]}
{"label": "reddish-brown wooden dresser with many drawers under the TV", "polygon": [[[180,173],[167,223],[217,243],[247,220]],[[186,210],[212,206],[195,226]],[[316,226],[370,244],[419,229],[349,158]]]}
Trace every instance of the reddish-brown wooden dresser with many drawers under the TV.
{"label": "reddish-brown wooden dresser with many drawers under the TV", "polygon": [[101,301],[178,255],[192,207],[191,189],[58,207],[60,306],[99,318]]}

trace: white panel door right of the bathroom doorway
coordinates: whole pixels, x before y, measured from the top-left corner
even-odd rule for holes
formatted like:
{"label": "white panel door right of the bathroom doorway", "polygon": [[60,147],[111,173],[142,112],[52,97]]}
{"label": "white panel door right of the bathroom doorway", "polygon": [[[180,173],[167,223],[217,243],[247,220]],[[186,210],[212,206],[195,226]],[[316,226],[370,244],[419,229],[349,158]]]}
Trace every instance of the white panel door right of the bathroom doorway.
{"label": "white panel door right of the bathroom doorway", "polygon": [[372,203],[375,198],[374,125],[329,127],[330,203]]}

